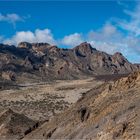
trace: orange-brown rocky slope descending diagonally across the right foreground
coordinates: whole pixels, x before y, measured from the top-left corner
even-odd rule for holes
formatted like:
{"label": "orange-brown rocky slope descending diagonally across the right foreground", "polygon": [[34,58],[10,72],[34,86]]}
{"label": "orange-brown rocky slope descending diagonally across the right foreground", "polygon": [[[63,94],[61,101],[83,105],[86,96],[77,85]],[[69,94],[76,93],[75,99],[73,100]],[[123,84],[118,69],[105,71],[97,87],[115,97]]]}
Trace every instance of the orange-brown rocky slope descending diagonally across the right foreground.
{"label": "orange-brown rocky slope descending diagonally across the right foreground", "polygon": [[24,139],[140,139],[140,72],[88,91]]}

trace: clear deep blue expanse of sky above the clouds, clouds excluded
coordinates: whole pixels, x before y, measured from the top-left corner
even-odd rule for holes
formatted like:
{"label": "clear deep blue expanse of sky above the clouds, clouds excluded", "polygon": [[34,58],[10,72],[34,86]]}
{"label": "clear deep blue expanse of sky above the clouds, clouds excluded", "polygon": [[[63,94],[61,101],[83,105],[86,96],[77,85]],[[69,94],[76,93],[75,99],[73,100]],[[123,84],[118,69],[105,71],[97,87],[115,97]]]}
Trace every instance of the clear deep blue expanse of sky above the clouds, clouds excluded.
{"label": "clear deep blue expanse of sky above the clouds, clouds excluded", "polygon": [[[111,12],[110,12],[111,11]],[[86,33],[91,29],[100,28],[110,17],[125,16],[122,7],[117,2],[47,2],[47,1],[29,1],[29,2],[1,2],[0,12],[2,14],[16,13],[20,16],[29,16],[24,22],[16,25],[13,30],[11,25],[0,23],[8,27],[9,31],[4,29],[1,34],[12,35],[15,31],[31,30],[36,28],[49,28],[56,37],[63,37],[74,32]]]}

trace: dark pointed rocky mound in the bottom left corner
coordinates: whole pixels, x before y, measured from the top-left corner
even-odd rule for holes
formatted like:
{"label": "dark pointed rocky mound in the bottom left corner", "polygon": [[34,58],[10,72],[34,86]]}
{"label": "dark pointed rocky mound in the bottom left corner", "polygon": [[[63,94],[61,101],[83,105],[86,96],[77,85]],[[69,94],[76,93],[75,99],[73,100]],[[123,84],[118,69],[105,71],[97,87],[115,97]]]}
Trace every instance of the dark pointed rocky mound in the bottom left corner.
{"label": "dark pointed rocky mound in the bottom left corner", "polygon": [[33,129],[38,123],[8,109],[0,115],[0,137],[1,139],[21,139]]}

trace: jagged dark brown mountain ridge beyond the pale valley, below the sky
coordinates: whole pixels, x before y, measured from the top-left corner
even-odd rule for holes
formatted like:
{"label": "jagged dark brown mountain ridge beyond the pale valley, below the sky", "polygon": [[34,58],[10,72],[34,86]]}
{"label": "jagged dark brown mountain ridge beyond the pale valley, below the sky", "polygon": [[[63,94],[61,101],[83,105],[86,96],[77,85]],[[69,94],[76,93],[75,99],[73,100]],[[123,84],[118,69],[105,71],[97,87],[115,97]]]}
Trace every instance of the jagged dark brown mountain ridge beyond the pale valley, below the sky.
{"label": "jagged dark brown mountain ridge beyond the pale valley, below the sky", "polygon": [[137,69],[139,65],[131,64],[121,53],[109,55],[87,42],[73,49],[48,43],[21,42],[17,47],[0,44],[1,79],[20,83],[124,74]]}

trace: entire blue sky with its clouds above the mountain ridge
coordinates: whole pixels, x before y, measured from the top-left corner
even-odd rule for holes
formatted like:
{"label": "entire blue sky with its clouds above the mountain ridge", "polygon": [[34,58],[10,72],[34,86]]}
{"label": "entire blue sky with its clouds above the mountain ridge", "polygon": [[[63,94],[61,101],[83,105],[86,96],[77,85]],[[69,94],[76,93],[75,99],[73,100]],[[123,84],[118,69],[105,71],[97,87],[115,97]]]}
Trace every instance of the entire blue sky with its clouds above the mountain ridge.
{"label": "entire blue sky with its clouds above the mountain ridge", "polygon": [[0,1],[0,41],[48,42],[72,48],[83,41],[140,62],[137,1]]}

